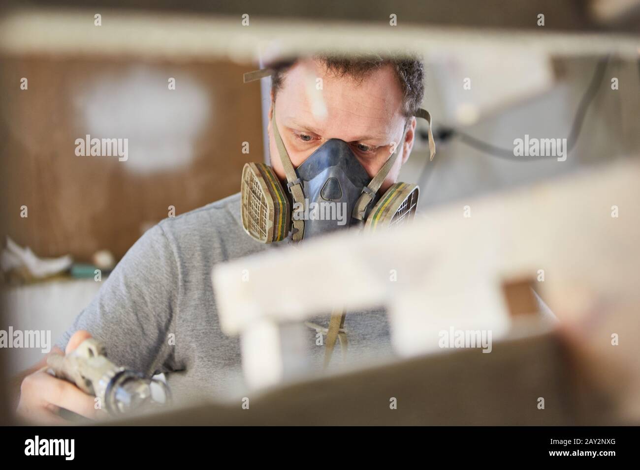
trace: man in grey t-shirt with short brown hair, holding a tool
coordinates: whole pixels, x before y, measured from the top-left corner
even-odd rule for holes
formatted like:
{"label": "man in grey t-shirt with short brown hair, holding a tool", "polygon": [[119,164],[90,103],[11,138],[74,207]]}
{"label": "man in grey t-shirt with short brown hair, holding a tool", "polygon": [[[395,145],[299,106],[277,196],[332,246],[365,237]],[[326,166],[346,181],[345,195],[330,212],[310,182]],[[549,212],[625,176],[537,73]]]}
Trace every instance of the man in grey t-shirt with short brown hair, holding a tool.
{"label": "man in grey t-shirt with short brown hair, holding a tool", "polygon": [[[310,77],[321,79],[321,111]],[[397,180],[415,137],[424,94],[417,59],[297,61],[273,76],[271,110],[294,168],[330,139],[348,145],[373,178],[397,152],[378,194]],[[275,106],[277,104],[277,106]],[[281,182],[286,171],[278,157],[273,121],[269,124],[271,166]],[[240,196],[165,219],[127,252],[91,304],[76,318],[52,352],[73,350],[94,336],[116,364],[153,375],[166,373],[177,396],[222,396],[241,384],[237,338],[221,332],[210,273],[216,263],[278,249],[287,240],[261,244],[241,224]],[[348,315],[350,357],[390,354],[383,311]],[[328,318],[323,317],[317,322]],[[170,336],[173,335],[173,336]],[[175,338],[170,341],[169,338]],[[309,330],[313,357],[321,357],[316,331]],[[93,398],[56,379],[38,364],[22,380],[18,412],[39,422],[60,423],[59,410],[95,418]],[[197,393],[195,393],[197,392]]]}

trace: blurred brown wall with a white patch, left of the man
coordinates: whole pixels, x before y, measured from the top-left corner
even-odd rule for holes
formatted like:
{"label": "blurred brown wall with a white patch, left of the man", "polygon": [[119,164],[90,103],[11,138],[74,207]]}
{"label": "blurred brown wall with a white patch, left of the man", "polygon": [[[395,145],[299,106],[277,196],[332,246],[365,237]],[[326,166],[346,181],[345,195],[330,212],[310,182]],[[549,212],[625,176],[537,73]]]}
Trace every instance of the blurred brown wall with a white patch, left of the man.
{"label": "blurred brown wall with a white patch, left of the man", "polygon": [[[237,192],[244,163],[262,160],[260,87],[243,84],[248,70],[215,60],[0,57],[6,234],[40,256],[89,261],[109,249],[119,259],[169,206],[179,215]],[[76,156],[86,134],[128,138],[129,159]]]}

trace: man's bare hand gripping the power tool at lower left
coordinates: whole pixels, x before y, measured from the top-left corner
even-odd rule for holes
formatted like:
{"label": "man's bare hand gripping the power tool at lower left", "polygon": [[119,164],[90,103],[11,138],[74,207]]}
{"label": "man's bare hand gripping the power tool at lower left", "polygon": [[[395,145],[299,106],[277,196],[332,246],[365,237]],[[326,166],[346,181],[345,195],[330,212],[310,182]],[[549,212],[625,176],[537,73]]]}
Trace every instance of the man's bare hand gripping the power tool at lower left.
{"label": "man's bare hand gripping the power tool at lower left", "polygon": [[[91,334],[76,331],[67,344],[65,354],[69,354]],[[61,354],[61,350],[52,350],[52,354]],[[46,359],[39,364],[35,372],[29,373],[20,384],[20,402],[17,414],[19,418],[38,424],[68,424],[58,412],[61,408],[72,411],[89,419],[96,419],[100,410],[94,408],[93,396],[87,395],[74,384],[56,379],[47,373]]]}

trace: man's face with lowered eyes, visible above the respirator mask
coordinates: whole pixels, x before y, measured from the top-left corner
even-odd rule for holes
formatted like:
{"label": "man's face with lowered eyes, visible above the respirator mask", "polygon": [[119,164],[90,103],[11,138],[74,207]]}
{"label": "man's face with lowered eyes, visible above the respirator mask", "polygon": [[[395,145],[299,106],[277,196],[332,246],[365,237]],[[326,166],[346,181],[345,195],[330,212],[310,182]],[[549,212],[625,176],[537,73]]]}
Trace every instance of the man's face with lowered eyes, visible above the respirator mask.
{"label": "man's face with lowered eyes, visible above the respirator mask", "polygon": [[[316,87],[318,78],[322,79],[321,90]],[[274,109],[271,101],[269,118]],[[341,139],[351,146],[360,164],[373,177],[387,161],[395,143],[399,155],[381,191],[397,181],[400,167],[413,146],[415,118],[410,119],[401,142],[407,118],[402,113],[402,90],[390,65],[372,72],[361,82],[326,73],[318,61],[298,61],[285,73],[275,101],[276,123],[294,168],[328,139]],[[271,166],[285,180],[270,119],[268,130]]]}

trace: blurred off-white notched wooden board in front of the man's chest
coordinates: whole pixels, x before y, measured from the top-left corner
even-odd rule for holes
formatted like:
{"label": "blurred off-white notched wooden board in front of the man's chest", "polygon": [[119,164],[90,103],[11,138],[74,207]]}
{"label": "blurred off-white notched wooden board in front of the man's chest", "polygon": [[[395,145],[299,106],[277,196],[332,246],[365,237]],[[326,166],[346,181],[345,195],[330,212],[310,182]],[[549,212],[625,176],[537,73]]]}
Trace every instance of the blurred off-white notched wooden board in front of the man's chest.
{"label": "blurred off-white notched wooden board in front of the man's chest", "polygon": [[507,338],[504,285],[522,279],[561,321],[602,299],[638,305],[638,201],[640,166],[629,160],[460,201],[397,231],[243,258],[212,274],[221,327],[241,335],[246,379],[262,387],[282,380],[278,325],[335,305],[385,306],[401,357],[438,351],[438,332],[451,327]]}

